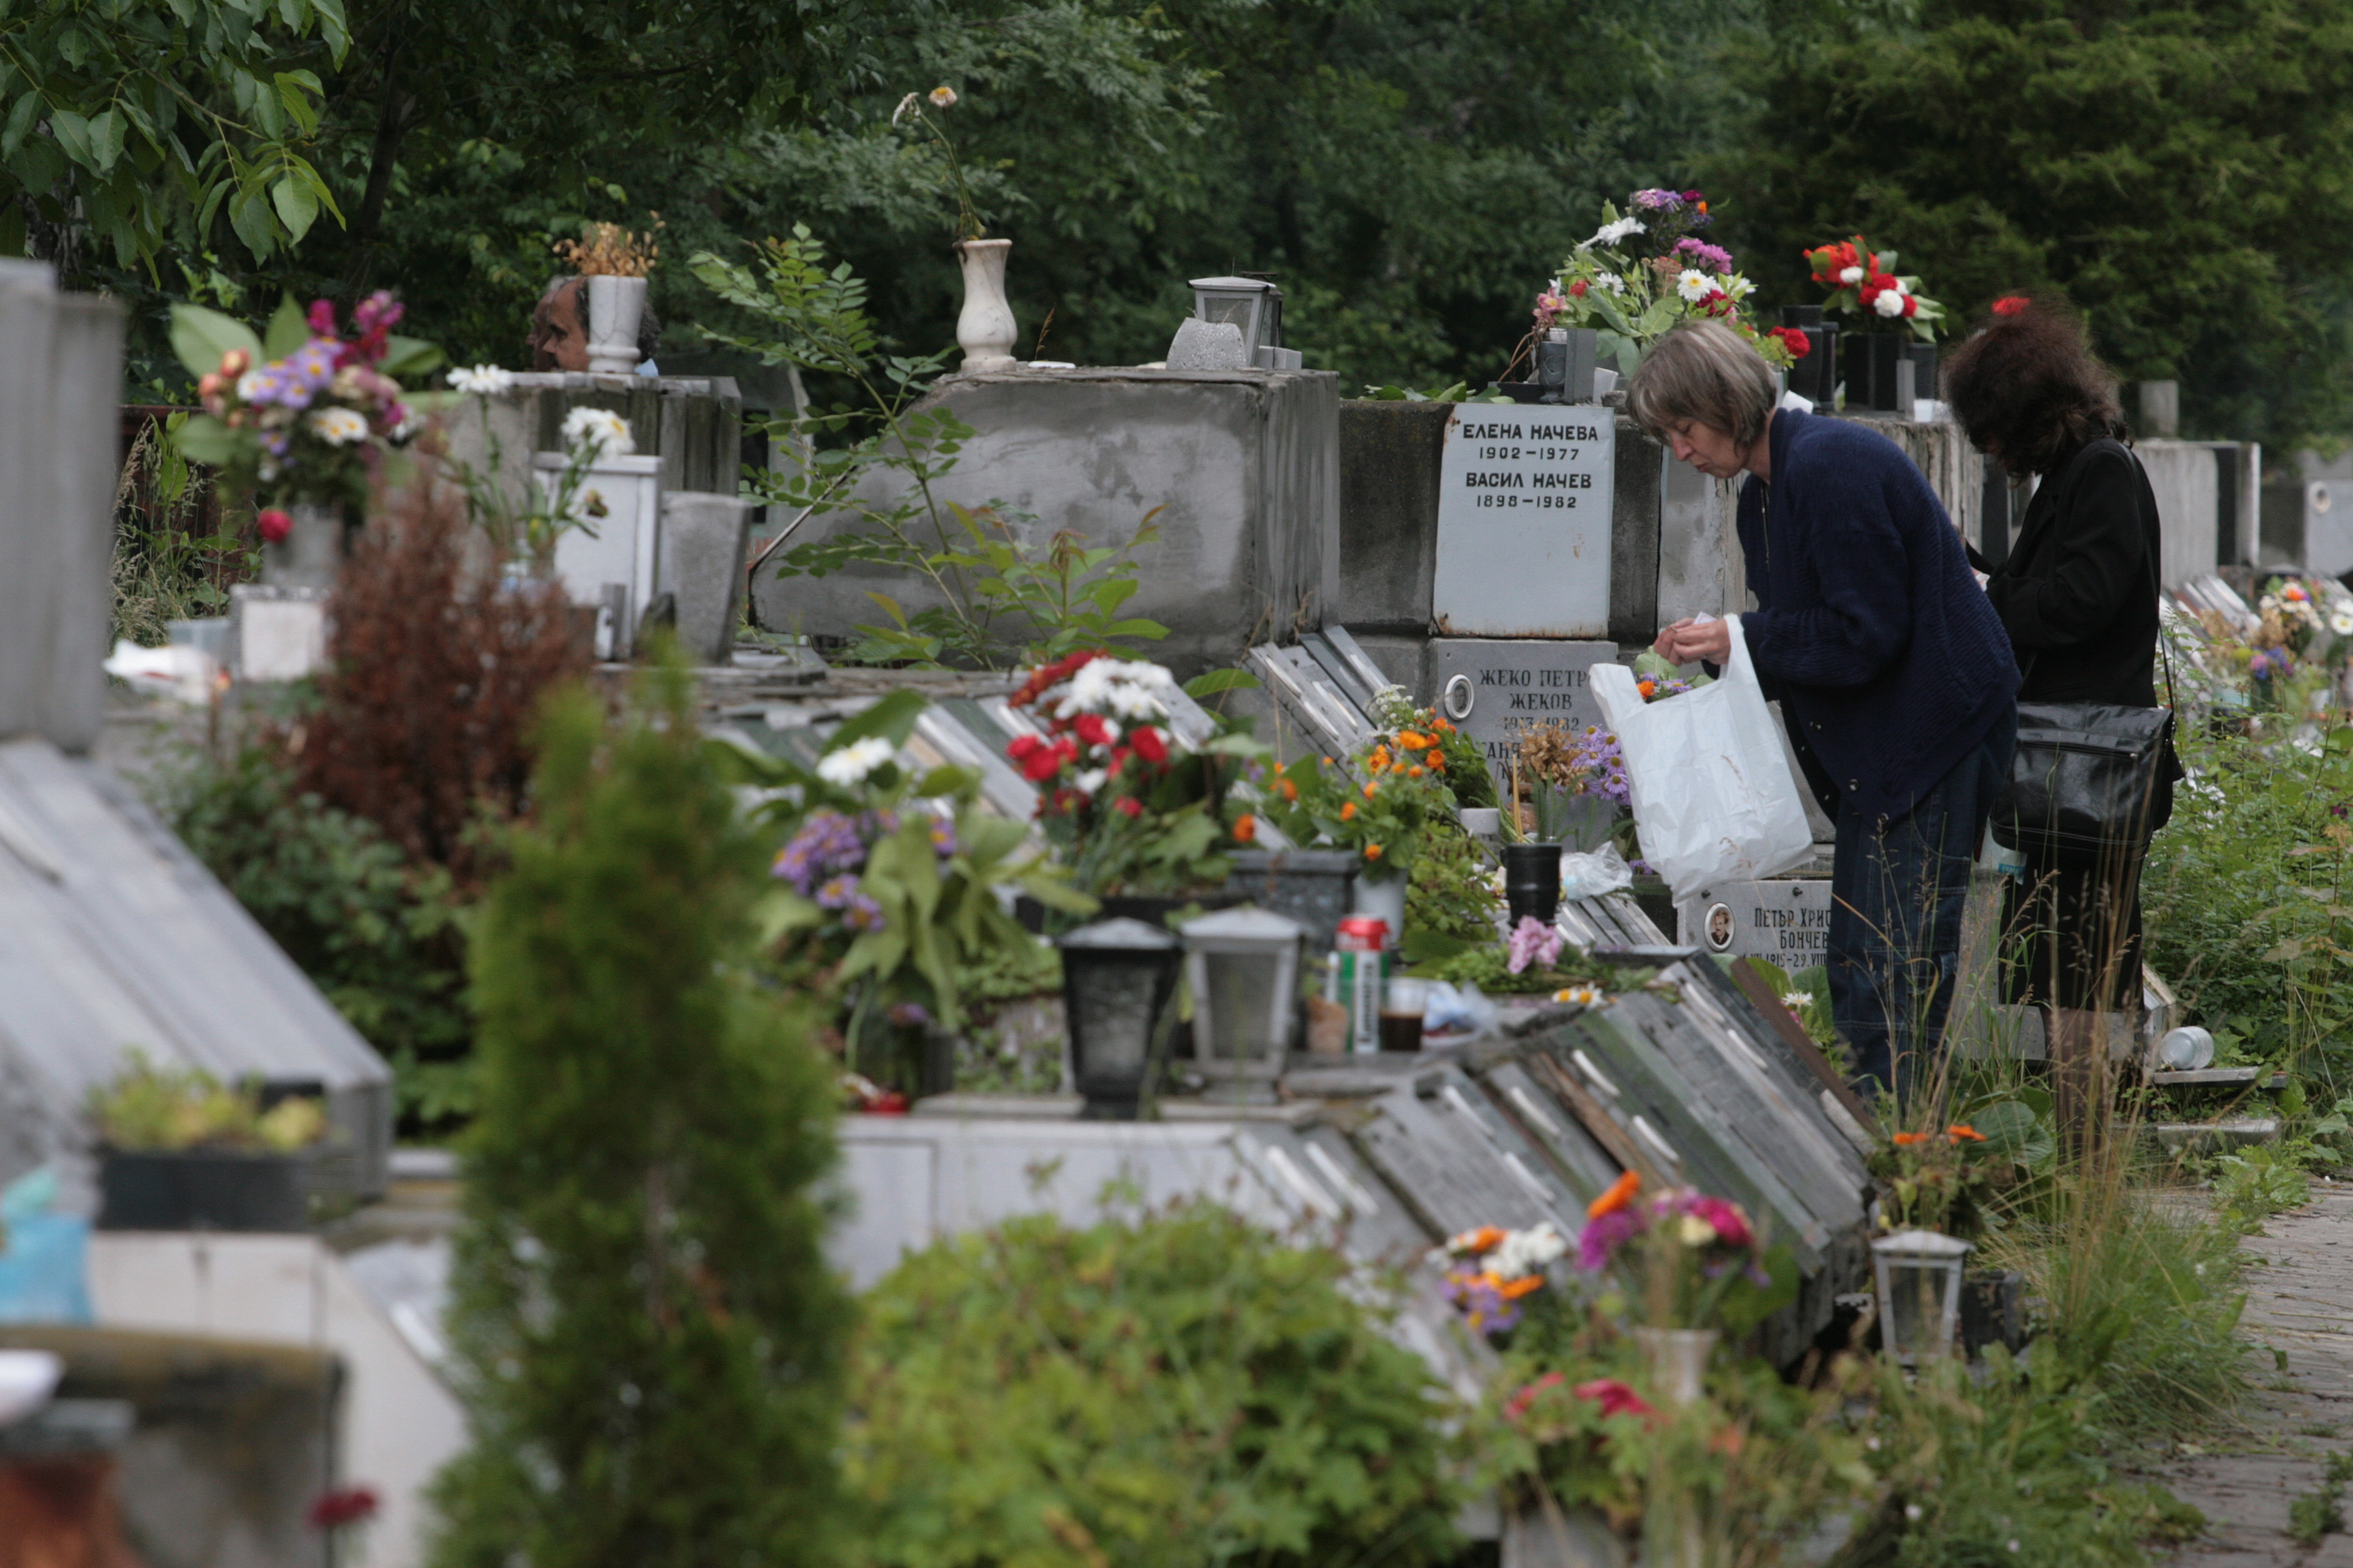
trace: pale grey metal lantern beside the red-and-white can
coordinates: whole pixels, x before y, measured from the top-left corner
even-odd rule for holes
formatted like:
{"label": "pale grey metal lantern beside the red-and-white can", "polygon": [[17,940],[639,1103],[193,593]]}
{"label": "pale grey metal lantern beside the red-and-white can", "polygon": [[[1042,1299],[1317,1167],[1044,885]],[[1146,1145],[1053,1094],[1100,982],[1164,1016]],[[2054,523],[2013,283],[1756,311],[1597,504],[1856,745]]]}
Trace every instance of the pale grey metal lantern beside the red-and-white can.
{"label": "pale grey metal lantern beside the red-and-white can", "polygon": [[1275,1098],[1299,1016],[1306,926],[1273,910],[1219,910],[1179,926],[1193,990],[1193,1070],[1212,1100]]}

